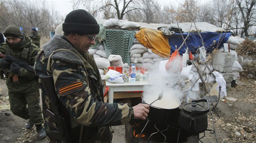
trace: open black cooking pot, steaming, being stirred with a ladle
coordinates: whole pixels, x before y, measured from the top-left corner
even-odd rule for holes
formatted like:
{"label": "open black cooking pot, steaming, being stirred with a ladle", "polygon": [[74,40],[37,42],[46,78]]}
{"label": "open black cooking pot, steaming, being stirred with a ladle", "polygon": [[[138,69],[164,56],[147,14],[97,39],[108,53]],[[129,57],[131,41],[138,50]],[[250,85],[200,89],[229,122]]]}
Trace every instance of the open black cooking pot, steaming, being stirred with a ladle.
{"label": "open black cooking pot, steaming, being stirred with a ladle", "polygon": [[[177,122],[180,113],[179,107],[181,103],[178,101],[178,99],[176,101],[178,102],[178,107],[174,107],[172,109],[156,107],[154,104],[150,105],[150,112],[148,114],[150,121],[159,124],[170,124],[171,122]],[[145,101],[142,101],[142,103],[148,104]]]}

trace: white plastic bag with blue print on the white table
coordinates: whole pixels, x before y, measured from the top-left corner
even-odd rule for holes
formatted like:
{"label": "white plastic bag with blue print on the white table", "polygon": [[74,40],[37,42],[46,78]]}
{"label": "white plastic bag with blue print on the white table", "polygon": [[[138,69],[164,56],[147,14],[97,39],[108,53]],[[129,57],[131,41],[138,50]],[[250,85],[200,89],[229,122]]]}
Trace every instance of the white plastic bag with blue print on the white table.
{"label": "white plastic bag with blue print on the white table", "polygon": [[106,80],[111,83],[124,83],[122,74],[112,69],[109,69],[106,73]]}

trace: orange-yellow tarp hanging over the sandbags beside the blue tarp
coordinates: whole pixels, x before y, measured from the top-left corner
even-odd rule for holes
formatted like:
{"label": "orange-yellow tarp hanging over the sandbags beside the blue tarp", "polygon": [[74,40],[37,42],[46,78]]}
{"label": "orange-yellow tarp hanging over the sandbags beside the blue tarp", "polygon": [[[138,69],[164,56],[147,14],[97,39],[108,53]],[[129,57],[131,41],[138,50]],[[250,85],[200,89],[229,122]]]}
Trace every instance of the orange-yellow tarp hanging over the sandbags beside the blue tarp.
{"label": "orange-yellow tarp hanging over the sandbags beside the blue tarp", "polygon": [[140,44],[150,48],[155,54],[166,58],[171,56],[168,36],[164,36],[160,30],[141,28],[135,37]]}

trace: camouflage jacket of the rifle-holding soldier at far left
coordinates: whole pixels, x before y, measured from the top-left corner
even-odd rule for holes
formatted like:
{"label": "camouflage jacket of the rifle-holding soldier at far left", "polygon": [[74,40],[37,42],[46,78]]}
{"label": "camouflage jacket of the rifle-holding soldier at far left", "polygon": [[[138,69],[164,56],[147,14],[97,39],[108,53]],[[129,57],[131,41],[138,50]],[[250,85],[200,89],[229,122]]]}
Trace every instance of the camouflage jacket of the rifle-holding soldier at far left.
{"label": "camouflage jacket of the rifle-holding soldier at far left", "polygon": [[[8,51],[9,50],[9,51]],[[17,44],[11,45],[8,41],[3,42],[0,45],[0,52],[4,55],[13,55],[17,59],[28,63],[31,66],[34,66],[35,58],[37,53],[39,52],[39,48],[32,44],[32,40],[29,37],[24,36],[24,38]],[[37,80],[37,76],[27,69],[21,67],[18,73],[19,82],[26,83],[30,80]],[[7,86],[12,86],[13,79],[9,77],[6,82]]]}

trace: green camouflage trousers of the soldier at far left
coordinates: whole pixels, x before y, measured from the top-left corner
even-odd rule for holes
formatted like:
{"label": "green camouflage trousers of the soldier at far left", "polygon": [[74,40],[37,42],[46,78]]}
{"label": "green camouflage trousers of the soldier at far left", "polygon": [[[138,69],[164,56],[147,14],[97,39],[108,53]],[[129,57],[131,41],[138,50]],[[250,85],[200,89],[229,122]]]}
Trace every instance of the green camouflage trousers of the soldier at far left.
{"label": "green camouflage trousers of the soldier at far left", "polygon": [[7,87],[13,114],[26,120],[30,119],[34,124],[42,124],[38,80],[30,80],[25,84],[13,84],[7,80]]}

